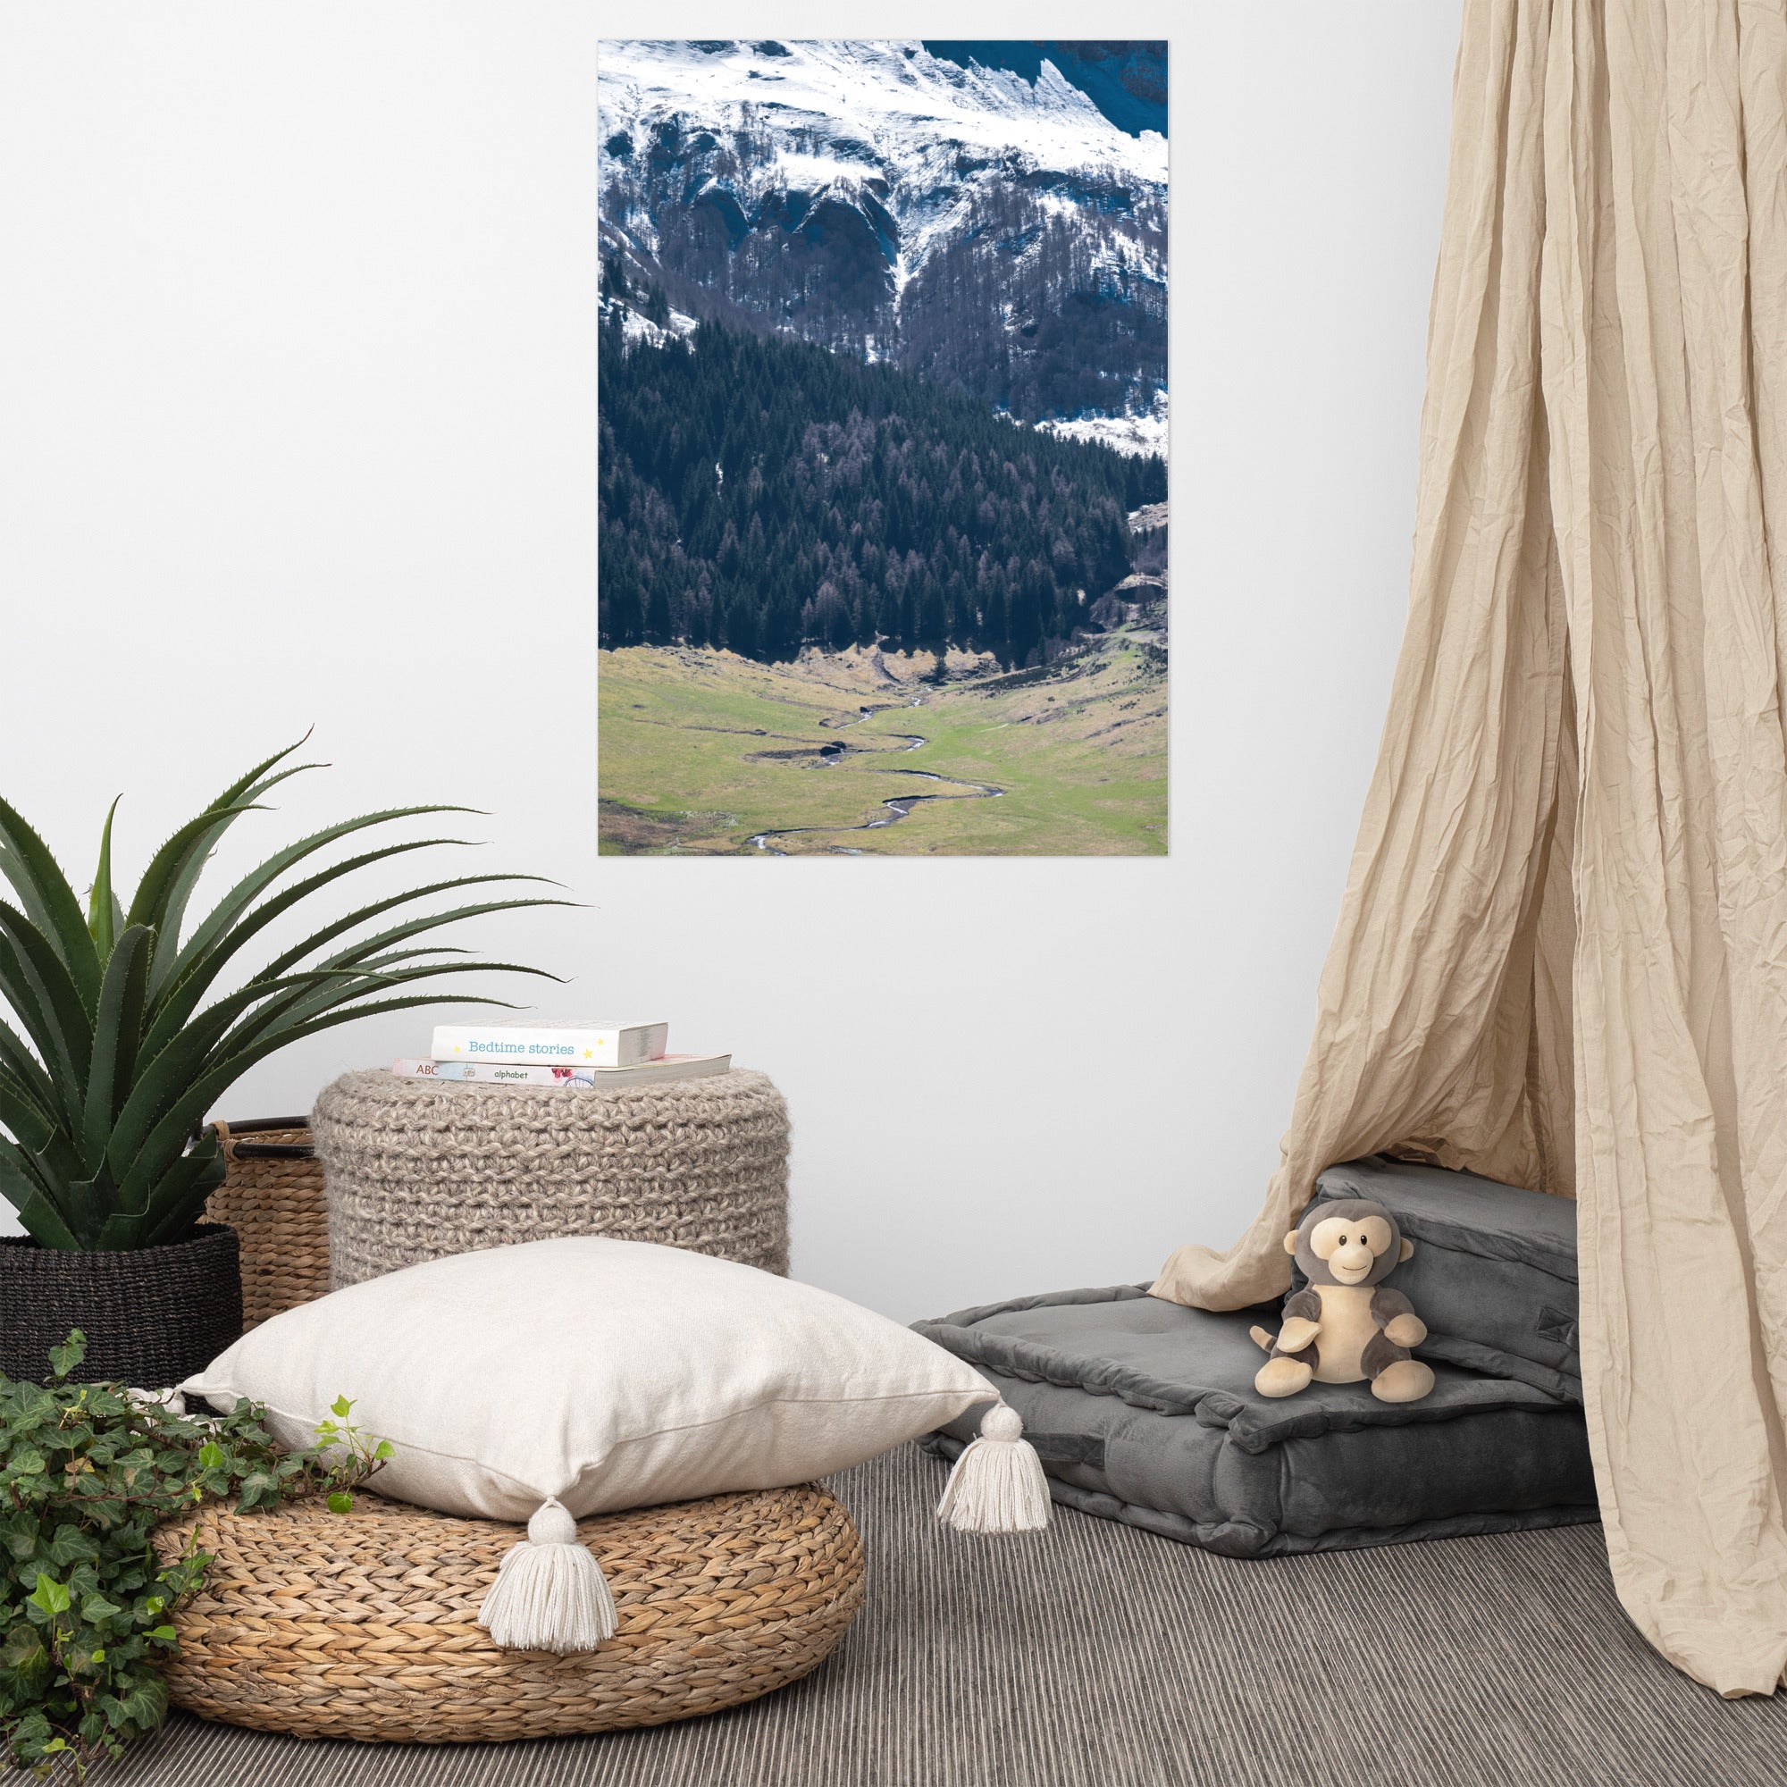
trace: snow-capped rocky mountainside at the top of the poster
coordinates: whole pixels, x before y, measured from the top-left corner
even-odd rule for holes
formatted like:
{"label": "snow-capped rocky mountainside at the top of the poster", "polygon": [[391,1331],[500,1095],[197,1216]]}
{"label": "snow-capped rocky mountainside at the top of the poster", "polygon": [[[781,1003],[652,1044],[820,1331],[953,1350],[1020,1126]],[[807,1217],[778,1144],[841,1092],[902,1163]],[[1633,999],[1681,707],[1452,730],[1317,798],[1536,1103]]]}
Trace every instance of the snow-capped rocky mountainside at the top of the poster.
{"label": "snow-capped rocky mountainside at the top of the poster", "polygon": [[1167,139],[1047,54],[1029,79],[949,48],[604,43],[604,256],[692,316],[1163,452]]}

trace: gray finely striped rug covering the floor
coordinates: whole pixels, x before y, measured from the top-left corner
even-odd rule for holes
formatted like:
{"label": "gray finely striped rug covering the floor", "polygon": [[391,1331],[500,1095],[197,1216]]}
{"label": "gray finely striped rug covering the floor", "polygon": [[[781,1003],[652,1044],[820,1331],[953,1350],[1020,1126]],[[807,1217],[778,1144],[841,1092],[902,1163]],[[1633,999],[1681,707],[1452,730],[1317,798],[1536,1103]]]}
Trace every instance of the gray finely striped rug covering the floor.
{"label": "gray finely striped rug covering the floor", "polygon": [[831,1660],[686,1724],[468,1748],[175,1716],[130,1787],[1778,1787],[1787,1696],[1655,1657],[1598,1526],[1242,1564],[1088,1515],[969,1540],[908,1449],[833,1483],[868,1605]]}

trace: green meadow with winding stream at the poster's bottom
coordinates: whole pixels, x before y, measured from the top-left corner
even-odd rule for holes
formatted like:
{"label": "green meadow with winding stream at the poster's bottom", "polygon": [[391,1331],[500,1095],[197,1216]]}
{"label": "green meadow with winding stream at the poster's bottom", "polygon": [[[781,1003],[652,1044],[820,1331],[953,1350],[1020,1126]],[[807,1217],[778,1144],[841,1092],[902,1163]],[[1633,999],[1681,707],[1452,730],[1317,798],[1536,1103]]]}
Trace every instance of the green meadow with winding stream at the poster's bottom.
{"label": "green meadow with winding stream at the poster's bottom", "polygon": [[1167,675],[1151,638],[1117,631],[1042,670],[960,652],[947,681],[933,670],[929,654],[860,647],[795,663],[600,652],[602,852],[1167,852]]}

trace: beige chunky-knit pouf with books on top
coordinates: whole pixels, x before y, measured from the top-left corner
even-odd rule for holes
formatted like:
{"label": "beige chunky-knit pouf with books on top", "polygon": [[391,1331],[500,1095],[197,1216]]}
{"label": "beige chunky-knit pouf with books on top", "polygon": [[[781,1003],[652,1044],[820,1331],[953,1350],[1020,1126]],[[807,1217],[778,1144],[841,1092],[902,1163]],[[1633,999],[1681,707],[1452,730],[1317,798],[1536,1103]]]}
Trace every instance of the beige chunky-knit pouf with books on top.
{"label": "beige chunky-knit pouf with books on top", "polygon": [[584,1090],[343,1074],[311,1115],[336,1288],[613,1235],[788,1271],[788,1108],[767,1074]]}

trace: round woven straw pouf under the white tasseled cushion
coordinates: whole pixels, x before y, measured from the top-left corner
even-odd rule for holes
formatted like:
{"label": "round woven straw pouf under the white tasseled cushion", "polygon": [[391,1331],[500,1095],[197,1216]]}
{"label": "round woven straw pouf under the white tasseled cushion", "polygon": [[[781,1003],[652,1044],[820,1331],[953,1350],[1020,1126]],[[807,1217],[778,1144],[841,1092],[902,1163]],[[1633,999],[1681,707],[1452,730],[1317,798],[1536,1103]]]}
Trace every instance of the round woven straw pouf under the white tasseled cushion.
{"label": "round woven straw pouf under the white tasseled cushion", "polygon": [[175,1615],[175,1707],[295,1737],[465,1744],[665,1724],[818,1667],[863,1599],[863,1548],[817,1485],[604,1514],[577,1526],[618,1630],[570,1657],[477,1624],[525,1528],[354,1498],[211,1508],[155,1535],[214,1558]]}

